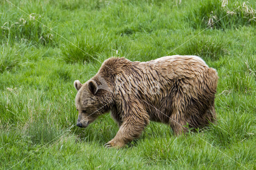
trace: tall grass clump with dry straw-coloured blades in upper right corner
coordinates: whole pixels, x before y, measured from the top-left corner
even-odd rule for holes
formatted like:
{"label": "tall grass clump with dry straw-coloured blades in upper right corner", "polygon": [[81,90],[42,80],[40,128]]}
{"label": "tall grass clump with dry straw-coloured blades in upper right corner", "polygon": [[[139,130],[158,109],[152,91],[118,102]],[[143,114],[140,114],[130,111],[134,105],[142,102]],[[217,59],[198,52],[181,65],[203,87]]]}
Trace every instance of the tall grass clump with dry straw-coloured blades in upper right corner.
{"label": "tall grass clump with dry straw-coloured blades in upper right corner", "polygon": [[196,8],[186,16],[186,19],[194,28],[230,29],[256,24],[255,2],[228,2],[225,0],[201,0],[196,4]]}

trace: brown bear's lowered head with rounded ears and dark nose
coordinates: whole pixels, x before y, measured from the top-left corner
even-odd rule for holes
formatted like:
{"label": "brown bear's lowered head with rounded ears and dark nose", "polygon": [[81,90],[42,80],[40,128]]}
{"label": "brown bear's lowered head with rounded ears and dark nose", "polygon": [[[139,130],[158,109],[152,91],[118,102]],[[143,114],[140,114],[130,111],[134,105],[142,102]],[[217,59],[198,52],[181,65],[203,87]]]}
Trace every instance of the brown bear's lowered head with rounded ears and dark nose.
{"label": "brown bear's lowered head with rounded ears and dark nose", "polygon": [[[99,85],[100,84],[100,85]],[[88,80],[81,84],[79,80],[74,81],[77,90],[76,109],[78,110],[78,127],[87,127],[99,115],[106,113],[111,104],[111,93],[106,82],[96,83]]]}

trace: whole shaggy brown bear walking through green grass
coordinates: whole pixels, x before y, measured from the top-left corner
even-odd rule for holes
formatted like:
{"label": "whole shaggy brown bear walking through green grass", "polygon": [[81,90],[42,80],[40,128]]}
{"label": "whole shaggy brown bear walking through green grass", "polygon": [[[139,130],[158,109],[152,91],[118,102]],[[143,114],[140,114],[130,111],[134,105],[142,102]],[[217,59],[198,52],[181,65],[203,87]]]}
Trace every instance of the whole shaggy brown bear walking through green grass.
{"label": "whole shaggy brown bear walking through green grass", "polygon": [[[111,112],[119,130],[106,147],[138,138],[149,121],[170,125],[176,135],[214,122],[218,75],[197,56],[173,55],[148,62],[112,57],[98,73],[74,82],[78,127]],[[188,125],[188,126],[187,126]]]}

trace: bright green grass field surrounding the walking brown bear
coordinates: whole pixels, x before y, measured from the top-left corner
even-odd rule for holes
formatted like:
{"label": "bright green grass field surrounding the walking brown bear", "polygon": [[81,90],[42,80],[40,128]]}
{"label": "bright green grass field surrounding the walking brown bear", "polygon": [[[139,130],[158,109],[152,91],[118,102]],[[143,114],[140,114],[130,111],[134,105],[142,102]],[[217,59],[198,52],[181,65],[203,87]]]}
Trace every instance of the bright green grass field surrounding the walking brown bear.
{"label": "bright green grass field surrounding the walking brown bear", "polygon": [[[256,169],[256,1],[10,0],[27,14],[8,1],[1,169]],[[74,80],[86,82],[111,56],[174,54],[199,55],[218,71],[217,125],[176,137],[151,122],[119,150],[103,147],[118,131],[109,113],[76,127]]]}

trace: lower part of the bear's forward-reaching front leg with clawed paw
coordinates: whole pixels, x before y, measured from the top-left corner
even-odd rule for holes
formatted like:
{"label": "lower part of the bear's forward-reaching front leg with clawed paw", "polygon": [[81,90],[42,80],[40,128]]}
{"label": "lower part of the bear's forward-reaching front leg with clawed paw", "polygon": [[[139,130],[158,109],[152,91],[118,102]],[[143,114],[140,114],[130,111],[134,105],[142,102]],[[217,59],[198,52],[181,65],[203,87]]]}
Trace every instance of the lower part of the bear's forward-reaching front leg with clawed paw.
{"label": "lower part of the bear's forward-reaching front leg with clawed paw", "polygon": [[126,143],[140,137],[142,131],[149,122],[149,119],[145,120],[141,118],[142,117],[140,117],[140,119],[132,117],[132,119],[126,119],[120,126],[116,136],[104,146],[106,146],[106,148],[121,148],[124,147]]}

